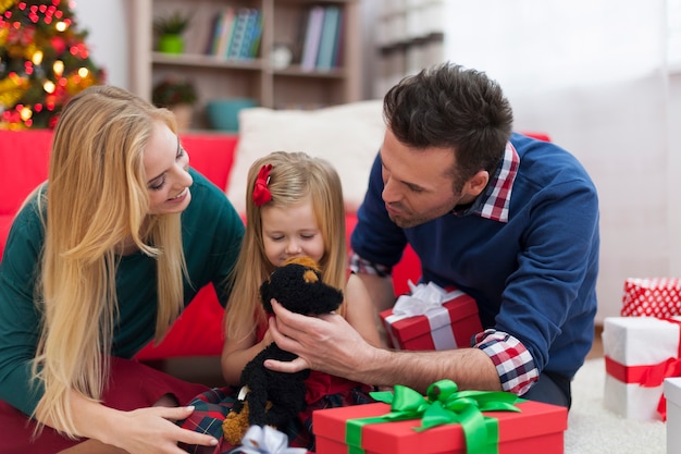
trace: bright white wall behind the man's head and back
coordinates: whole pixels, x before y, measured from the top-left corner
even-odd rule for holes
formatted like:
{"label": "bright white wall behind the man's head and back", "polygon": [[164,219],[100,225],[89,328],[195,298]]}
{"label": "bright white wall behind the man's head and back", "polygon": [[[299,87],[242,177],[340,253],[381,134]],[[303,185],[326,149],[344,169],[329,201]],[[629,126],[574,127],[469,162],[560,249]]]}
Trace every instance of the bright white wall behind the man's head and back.
{"label": "bright white wall behind the man's head and back", "polygon": [[681,77],[667,72],[666,2],[446,3],[447,59],[499,81],[516,128],[548,133],[598,187],[598,320],[619,315],[626,278],[681,275]]}

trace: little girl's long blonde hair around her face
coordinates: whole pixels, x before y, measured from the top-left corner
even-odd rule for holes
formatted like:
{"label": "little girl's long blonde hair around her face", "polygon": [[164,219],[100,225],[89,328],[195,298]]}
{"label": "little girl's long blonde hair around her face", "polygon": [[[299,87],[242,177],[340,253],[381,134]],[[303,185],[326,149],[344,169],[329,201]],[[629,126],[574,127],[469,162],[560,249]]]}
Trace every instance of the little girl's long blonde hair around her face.
{"label": "little girl's long blonde hair around her face", "polygon": [[[265,321],[259,289],[275,267],[264,254],[262,217],[260,207],[253,203],[253,186],[258,172],[267,164],[272,164],[268,183],[272,200],[265,205],[286,209],[311,200],[324,240],[324,255],[320,262],[322,278],[327,284],[342,290],[347,280],[345,209],[340,177],[336,170],[327,161],[304,152],[274,151],[258,159],[248,171],[246,233],[225,311],[226,335],[233,340],[252,334],[256,327]],[[343,306],[339,310],[339,314],[344,314]]]}

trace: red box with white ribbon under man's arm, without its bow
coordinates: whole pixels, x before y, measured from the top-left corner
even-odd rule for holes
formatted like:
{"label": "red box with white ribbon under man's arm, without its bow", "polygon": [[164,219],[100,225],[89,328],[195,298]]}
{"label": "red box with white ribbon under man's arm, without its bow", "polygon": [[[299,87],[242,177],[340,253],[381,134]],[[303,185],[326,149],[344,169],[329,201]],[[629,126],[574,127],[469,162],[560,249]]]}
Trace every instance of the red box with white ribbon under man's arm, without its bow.
{"label": "red box with white ribbon under man's arm, without its bow", "polygon": [[381,312],[392,346],[397,349],[451,349],[470,346],[471,338],[482,332],[478,304],[461,291],[451,299],[424,315],[395,317],[394,309]]}

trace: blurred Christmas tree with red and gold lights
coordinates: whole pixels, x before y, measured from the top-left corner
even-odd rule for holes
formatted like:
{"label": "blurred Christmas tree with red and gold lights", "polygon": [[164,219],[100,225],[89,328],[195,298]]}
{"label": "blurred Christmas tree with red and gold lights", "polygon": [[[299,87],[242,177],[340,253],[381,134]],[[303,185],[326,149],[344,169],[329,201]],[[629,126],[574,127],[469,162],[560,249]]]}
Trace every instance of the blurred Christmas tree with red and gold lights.
{"label": "blurred Christmas tree with red and gold lights", "polygon": [[0,0],[0,128],[54,127],[64,103],[103,83],[69,0]]}

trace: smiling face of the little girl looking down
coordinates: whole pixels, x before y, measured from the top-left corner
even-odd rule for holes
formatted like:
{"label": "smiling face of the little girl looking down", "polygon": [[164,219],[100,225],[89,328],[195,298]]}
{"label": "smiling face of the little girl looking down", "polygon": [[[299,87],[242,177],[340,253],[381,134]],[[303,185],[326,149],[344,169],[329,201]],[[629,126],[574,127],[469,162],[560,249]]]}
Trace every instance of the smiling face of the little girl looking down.
{"label": "smiling face of the little girl looking down", "polygon": [[324,240],[309,198],[295,207],[264,205],[260,214],[264,254],[273,266],[281,267],[284,260],[299,256],[322,260]]}

